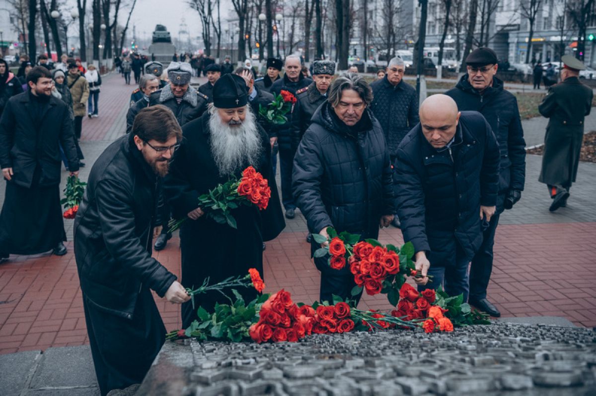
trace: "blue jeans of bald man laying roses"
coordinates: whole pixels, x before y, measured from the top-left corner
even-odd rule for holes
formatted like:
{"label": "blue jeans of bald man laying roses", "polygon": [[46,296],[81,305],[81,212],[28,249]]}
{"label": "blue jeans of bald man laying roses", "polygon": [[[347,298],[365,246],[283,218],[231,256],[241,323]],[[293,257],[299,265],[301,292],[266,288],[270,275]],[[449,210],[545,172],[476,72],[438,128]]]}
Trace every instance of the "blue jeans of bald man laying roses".
{"label": "blue jeans of bald man laying roses", "polygon": [[418,286],[418,291],[425,289],[437,290],[439,286],[443,287],[449,296],[458,296],[464,294],[464,303],[468,301],[468,265],[470,259],[465,256],[464,250],[460,244],[456,243],[455,257],[449,257],[449,262],[433,262],[432,254],[429,256],[430,269],[429,275],[433,276],[432,282],[424,286]]}

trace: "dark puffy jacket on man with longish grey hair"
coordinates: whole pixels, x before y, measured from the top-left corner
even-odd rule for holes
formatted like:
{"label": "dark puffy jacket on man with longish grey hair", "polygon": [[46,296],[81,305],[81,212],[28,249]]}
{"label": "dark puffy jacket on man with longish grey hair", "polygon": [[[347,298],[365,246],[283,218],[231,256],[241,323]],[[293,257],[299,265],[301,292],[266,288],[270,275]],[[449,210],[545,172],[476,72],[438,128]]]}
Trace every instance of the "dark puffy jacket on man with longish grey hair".
{"label": "dark puffy jacket on man with longish grey hair", "polygon": [[329,103],[316,110],[294,157],[292,190],[309,231],[332,226],[378,237],[381,216],[394,211],[393,180],[383,131],[368,109],[351,128]]}

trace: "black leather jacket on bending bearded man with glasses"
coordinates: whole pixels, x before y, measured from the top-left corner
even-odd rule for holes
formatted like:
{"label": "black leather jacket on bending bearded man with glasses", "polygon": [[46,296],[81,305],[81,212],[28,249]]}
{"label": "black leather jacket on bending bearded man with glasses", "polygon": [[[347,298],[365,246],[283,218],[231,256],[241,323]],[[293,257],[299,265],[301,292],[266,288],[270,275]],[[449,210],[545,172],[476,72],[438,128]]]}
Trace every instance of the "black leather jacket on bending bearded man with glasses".
{"label": "black leather jacket on bending bearded man with glasses", "polygon": [[163,297],[176,280],[151,257],[159,180],[132,139],[120,137],[95,161],[74,227],[81,291],[128,319],[142,284]]}

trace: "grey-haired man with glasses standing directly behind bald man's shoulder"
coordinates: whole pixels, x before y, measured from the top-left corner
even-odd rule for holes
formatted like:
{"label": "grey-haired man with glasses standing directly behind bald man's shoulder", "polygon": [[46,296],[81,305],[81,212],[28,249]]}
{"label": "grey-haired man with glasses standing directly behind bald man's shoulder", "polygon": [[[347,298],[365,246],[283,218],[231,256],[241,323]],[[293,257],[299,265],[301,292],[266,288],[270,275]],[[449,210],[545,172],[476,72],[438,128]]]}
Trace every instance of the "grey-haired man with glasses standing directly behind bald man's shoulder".
{"label": "grey-haired man with glasses standing directly behind bald man's shoulder", "polygon": [[[403,81],[403,73],[403,60],[396,56],[389,61],[385,77],[371,83],[374,95],[371,110],[383,128],[392,164],[399,143],[420,121],[416,90]],[[399,227],[398,216],[393,218],[392,224]]]}

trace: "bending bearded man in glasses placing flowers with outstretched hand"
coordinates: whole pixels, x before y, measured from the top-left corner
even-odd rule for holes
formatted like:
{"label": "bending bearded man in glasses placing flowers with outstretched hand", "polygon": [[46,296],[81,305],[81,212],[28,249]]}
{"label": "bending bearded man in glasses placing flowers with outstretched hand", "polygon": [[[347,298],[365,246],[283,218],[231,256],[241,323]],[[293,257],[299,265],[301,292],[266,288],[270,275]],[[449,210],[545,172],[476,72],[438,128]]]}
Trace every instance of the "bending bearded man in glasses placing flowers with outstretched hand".
{"label": "bending bearded man in glasses placing flowers with outstretched hand", "polygon": [[181,130],[169,109],[139,112],[131,134],[95,161],[75,219],[75,258],[102,395],[140,384],[166,328],[151,290],[170,303],[190,296],[156,259],[159,183]]}

